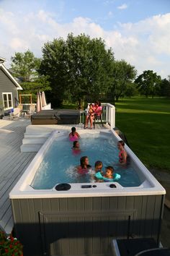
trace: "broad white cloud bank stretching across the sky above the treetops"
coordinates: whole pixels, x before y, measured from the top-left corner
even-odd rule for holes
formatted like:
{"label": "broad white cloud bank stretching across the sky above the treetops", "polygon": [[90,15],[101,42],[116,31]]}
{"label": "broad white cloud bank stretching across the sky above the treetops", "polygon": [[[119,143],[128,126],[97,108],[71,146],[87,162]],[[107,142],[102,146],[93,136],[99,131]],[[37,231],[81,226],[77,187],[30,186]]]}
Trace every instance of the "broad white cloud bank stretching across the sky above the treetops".
{"label": "broad white cloud bank stretching across the sky above the treetops", "polygon": [[59,37],[66,39],[68,33],[85,33],[91,38],[103,38],[107,47],[112,47],[115,58],[134,65],[138,74],[147,69],[153,69],[162,77],[170,74],[170,13],[136,23],[117,23],[117,27],[109,31],[84,17],[76,17],[70,23],[57,22],[54,15],[45,10],[30,12],[24,18],[2,9],[0,14],[0,56],[8,61],[15,51],[28,48],[40,57],[47,41]]}

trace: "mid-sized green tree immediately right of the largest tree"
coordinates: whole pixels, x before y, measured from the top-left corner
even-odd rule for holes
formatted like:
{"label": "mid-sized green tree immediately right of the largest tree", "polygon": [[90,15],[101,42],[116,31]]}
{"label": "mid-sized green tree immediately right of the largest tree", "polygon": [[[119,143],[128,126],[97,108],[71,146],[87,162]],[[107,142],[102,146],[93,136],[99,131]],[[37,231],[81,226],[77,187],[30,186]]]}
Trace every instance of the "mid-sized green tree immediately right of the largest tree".
{"label": "mid-sized green tree immediately right of the largest tree", "polygon": [[133,80],[135,76],[135,67],[131,66],[123,59],[121,61],[115,61],[112,70],[113,82],[110,87],[110,93],[114,103],[115,100],[118,101],[120,97],[126,94],[129,95],[130,92],[133,93],[133,88],[135,88]]}

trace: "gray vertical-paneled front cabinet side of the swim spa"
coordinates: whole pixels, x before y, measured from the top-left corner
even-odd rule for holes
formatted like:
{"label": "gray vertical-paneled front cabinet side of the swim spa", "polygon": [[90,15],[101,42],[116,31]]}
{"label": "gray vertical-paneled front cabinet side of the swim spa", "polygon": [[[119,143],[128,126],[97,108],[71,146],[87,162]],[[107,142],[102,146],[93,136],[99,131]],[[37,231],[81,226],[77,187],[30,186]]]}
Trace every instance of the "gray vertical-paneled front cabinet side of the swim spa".
{"label": "gray vertical-paneled front cabinet side of the swim spa", "polygon": [[24,256],[106,256],[112,239],[158,242],[164,195],[11,201]]}

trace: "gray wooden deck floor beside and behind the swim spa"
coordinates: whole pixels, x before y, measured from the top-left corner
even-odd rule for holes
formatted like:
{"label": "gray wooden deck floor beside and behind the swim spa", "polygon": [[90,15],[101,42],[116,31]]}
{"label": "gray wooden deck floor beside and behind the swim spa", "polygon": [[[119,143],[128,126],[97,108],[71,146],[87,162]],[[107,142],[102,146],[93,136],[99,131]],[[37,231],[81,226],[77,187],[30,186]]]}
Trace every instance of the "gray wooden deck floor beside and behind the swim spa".
{"label": "gray wooden deck floor beside and behind the swim spa", "polygon": [[[30,119],[9,121],[0,119],[0,229],[10,234],[13,228],[9,192],[24,173],[36,153],[21,153],[20,146]],[[73,124],[58,125],[58,129],[71,129]],[[83,129],[83,124],[76,124]],[[96,125],[96,129],[101,129]],[[107,127],[103,127],[107,129]]]}

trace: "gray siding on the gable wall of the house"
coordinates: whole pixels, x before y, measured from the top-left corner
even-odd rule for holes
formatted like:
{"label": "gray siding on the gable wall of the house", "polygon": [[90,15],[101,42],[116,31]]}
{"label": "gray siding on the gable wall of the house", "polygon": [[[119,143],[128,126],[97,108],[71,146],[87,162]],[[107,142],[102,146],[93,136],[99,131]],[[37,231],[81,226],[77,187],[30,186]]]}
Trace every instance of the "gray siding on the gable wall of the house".
{"label": "gray siding on the gable wall of the house", "polygon": [[0,68],[0,102],[3,102],[2,93],[12,93],[13,107],[15,107],[15,98],[18,99],[17,87]]}

